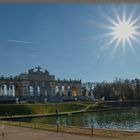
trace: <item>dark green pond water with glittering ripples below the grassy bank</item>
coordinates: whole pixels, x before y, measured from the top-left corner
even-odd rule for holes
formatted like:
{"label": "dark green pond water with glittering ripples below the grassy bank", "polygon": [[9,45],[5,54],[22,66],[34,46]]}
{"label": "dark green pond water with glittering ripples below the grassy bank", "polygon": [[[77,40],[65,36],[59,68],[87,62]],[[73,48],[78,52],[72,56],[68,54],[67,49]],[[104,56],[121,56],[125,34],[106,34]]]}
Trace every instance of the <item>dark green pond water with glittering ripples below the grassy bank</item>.
{"label": "dark green pond water with glittering ripples below the grassy bank", "polygon": [[[93,124],[94,128],[140,130],[140,108],[81,113],[60,116],[58,119],[60,125],[91,127]],[[56,117],[30,118],[21,121],[56,124]]]}

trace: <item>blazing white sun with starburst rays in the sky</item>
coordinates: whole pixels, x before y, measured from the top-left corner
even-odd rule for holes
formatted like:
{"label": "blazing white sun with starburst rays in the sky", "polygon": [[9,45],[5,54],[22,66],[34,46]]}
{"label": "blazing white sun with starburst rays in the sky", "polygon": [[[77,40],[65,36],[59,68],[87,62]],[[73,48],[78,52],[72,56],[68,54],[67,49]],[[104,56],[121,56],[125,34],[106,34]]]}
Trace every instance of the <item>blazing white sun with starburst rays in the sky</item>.
{"label": "blazing white sun with starburst rays in the sky", "polygon": [[134,18],[134,12],[131,12],[128,16],[126,11],[123,10],[122,14],[114,12],[115,18],[107,18],[109,25],[106,26],[109,29],[107,36],[111,37],[111,44],[116,43],[116,46],[130,46],[132,47],[132,41],[138,42],[139,32],[139,18]]}

